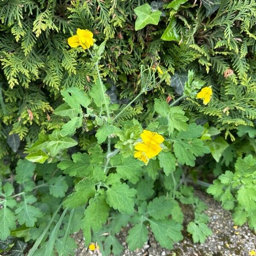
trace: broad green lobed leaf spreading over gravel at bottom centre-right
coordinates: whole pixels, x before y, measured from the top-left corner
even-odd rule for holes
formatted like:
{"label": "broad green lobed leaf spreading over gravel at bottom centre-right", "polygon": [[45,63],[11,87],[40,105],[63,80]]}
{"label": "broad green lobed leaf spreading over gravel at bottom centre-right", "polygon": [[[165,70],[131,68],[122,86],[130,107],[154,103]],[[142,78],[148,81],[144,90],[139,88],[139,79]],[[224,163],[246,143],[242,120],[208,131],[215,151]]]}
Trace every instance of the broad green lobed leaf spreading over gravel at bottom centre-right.
{"label": "broad green lobed leaf spreading over gravel at bottom centre-right", "polygon": [[154,220],[149,221],[152,232],[155,239],[159,242],[161,247],[172,250],[173,242],[183,239],[181,230],[183,226],[180,223],[176,223],[174,220]]}

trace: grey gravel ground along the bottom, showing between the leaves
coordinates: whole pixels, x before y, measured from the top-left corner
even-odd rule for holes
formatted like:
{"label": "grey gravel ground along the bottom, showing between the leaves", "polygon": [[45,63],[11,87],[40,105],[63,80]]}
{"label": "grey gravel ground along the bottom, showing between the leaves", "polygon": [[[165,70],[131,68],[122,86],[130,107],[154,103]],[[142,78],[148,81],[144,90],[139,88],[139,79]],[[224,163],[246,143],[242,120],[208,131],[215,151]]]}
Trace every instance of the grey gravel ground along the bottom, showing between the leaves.
{"label": "grey gravel ground along the bottom, showing between the leaves", "polygon": [[[194,244],[191,236],[183,230],[184,239],[174,244],[173,250],[169,251],[160,247],[150,233],[148,243],[142,249],[129,251],[125,239],[127,228],[118,234],[118,238],[125,246],[122,256],[248,256],[250,250],[256,251],[256,234],[247,225],[234,226],[231,214],[221,208],[221,205],[204,192],[197,195],[207,203],[206,213],[210,216],[209,227],[212,229],[210,236],[204,244]],[[185,224],[192,216],[191,210],[183,206]],[[82,233],[74,234],[77,244],[76,256],[99,256],[84,247]]]}

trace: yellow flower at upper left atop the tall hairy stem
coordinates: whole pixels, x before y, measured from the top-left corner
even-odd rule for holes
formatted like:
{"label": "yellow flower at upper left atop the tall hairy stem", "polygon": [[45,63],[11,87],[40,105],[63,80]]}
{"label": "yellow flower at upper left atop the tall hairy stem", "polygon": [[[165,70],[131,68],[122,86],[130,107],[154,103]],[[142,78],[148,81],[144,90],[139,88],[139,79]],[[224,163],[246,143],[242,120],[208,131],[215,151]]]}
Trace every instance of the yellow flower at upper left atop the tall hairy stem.
{"label": "yellow flower at upper left atop the tall hairy stem", "polygon": [[76,35],[68,38],[67,42],[73,48],[81,45],[81,47],[84,49],[89,49],[91,46],[93,46],[93,33],[88,29],[77,29]]}

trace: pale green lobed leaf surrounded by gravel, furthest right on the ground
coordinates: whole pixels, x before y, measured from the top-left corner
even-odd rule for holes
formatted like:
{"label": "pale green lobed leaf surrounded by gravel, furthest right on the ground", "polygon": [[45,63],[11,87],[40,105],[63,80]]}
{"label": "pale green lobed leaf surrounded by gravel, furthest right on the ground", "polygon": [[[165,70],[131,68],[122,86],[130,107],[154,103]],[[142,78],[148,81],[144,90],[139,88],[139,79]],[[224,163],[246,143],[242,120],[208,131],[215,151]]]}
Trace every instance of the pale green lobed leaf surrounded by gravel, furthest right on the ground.
{"label": "pale green lobed leaf surrounded by gravel, furthest right on the ground", "polygon": [[192,234],[193,242],[201,244],[212,235],[212,230],[204,222],[190,221],[187,226],[187,231]]}

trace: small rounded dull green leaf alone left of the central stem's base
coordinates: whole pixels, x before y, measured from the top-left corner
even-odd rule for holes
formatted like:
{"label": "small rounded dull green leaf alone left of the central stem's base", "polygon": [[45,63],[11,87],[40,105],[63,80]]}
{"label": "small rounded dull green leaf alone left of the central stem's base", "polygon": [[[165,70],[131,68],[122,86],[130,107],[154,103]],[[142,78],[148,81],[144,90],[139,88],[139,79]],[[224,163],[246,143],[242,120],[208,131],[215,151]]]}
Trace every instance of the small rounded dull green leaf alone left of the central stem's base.
{"label": "small rounded dull green leaf alone left of the central stem's base", "polygon": [[49,180],[48,183],[50,195],[61,198],[65,196],[68,185],[64,176],[59,175],[58,177],[53,177]]}

